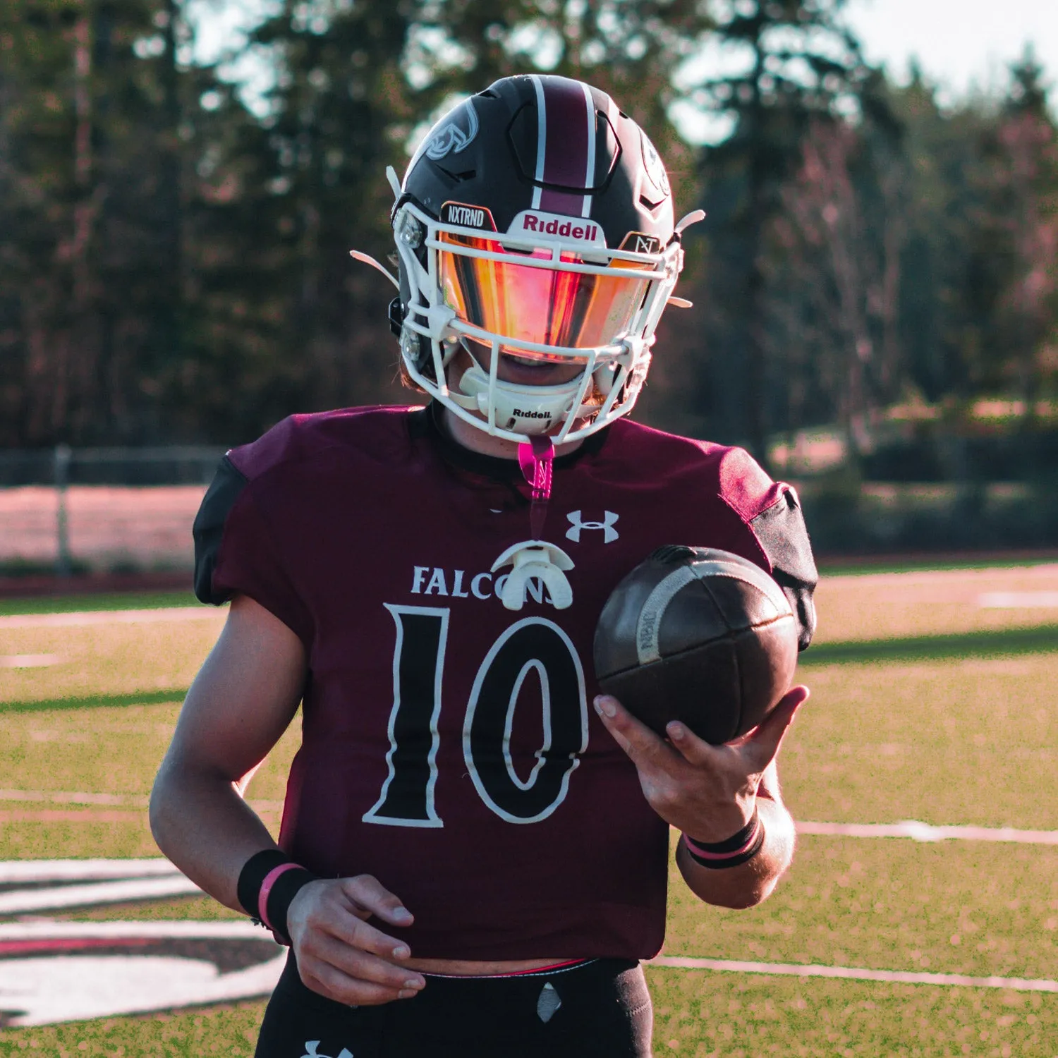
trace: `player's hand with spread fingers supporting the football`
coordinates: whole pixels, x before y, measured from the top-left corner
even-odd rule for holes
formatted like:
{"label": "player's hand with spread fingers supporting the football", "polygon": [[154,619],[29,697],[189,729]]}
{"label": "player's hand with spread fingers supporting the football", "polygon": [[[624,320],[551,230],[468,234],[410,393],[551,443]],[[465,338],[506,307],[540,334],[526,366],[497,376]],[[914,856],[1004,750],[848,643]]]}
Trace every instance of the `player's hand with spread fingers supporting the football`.
{"label": "player's hand with spread fingers supporting the football", "polygon": [[807,697],[808,688],[791,688],[762,724],[722,746],[676,720],[662,738],[612,695],[597,697],[595,707],[635,764],[651,807],[698,841],[725,841],[752,818],[761,778]]}

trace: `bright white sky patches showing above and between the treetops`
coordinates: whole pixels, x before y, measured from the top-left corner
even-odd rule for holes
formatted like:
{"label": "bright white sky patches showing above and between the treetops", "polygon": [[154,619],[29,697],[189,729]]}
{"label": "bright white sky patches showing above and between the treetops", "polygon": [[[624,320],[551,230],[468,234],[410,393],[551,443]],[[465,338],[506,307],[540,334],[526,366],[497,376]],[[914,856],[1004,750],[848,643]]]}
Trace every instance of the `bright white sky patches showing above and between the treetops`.
{"label": "bright white sky patches showing above and between the treetops", "polygon": [[[198,24],[199,60],[216,61],[225,48],[237,47],[243,30],[268,4],[188,0]],[[975,91],[1002,91],[1009,63],[1021,57],[1026,44],[1035,49],[1048,81],[1058,83],[1058,0],[847,0],[845,19],[868,60],[884,65],[897,83],[907,83],[909,66],[917,59],[945,106]],[[270,79],[252,57],[231,68],[229,76],[249,83],[249,103],[254,102],[253,86],[264,88]],[[1051,102],[1058,111],[1058,87],[1052,88]],[[683,122],[673,116],[683,131]],[[694,121],[688,126],[689,138],[699,141],[722,138],[724,130],[723,122],[712,131]]]}

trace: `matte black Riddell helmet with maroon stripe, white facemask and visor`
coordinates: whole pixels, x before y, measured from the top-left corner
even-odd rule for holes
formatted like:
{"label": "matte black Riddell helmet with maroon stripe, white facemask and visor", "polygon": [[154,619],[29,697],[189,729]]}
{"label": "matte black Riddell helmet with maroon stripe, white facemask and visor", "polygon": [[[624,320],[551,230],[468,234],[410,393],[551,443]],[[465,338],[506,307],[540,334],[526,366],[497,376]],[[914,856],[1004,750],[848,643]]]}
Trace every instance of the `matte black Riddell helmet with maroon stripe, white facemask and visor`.
{"label": "matte black Riddell helmet with maroon stripe, white facemask and visor", "polygon": [[[390,320],[418,385],[511,440],[576,440],[631,411],[697,215],[673,224],[657,151],[605,92],[505,77],[437,122],[391,182]],[[450,380],[460,348],[474,366]],[[516,385],[497,378],[499,353],[583,369]]]}

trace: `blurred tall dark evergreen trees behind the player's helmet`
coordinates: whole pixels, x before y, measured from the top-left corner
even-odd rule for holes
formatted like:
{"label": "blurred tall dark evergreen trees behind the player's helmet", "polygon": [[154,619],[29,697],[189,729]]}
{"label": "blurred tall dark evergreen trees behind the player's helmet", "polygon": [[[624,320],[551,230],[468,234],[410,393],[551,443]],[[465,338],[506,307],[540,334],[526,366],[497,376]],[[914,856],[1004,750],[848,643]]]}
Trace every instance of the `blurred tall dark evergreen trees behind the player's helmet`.
{"label": "blurred tall dark evergreen trees behind the player's helmet", "polygon": [[282,0],[224,57],[247,90],[194,61],[218,6],[0,8],[0,444],[236,443],[414,400],[348,250],[388,252],[384,169],[432,116],[545,70],[613,93],[709,215],[643,418],[837,493],[951,479],[980,507],[1058,463],[1032,52],[944,108],[868,67],[841,0]]}

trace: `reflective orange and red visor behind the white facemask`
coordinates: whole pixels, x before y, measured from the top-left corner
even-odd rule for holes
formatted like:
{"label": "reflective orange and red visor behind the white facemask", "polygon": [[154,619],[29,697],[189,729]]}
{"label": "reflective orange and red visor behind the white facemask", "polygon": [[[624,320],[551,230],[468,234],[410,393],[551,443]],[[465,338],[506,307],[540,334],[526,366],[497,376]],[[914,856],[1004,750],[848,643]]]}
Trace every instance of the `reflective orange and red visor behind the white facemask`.
{"label": "reflective orange and red visor behind the white facemask", "polygon": [[[613,275],[592,275],[521,263],[526,258],[550,260],[548,250],[521,253],[495,238],[446,232],[440,233],[440,241],[504,255],[504,260],[490,260],[455,249],[438,251],[445,303],[466,323],[501,335],[504,347],[517,348],[518,342],[576,349],[610,345],[627,332],[652,281],[628,274],[651,271],[650,266],[624,260],[609,266]],[[595,263],[572,252],[564,252],[561,260]]]}

